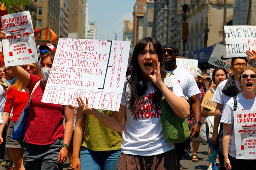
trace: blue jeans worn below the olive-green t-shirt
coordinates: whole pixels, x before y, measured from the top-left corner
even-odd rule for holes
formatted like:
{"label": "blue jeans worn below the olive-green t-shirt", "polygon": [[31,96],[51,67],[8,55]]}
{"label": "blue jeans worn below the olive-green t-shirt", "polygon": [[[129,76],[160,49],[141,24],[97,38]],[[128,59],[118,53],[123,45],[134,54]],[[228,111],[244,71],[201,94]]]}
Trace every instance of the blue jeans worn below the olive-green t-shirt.
{"label": "blue jeans worn below the olive-green t-shirt", "polygon": [[81,170],[112,170],[117,169],[121,150],[91,151],[82,146]]}

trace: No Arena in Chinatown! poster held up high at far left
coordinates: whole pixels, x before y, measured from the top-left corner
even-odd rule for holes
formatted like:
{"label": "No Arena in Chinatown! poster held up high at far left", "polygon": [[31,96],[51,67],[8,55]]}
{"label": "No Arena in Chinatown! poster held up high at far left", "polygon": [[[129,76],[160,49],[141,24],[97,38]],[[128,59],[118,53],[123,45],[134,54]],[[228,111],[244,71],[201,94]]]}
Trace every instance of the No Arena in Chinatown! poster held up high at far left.
{"label": "No Arena in Chinatown! poster held up high at far left", "polygon": [[5,66],[38,62],[30,12],[18,12],[1,17],[6,39],[3,39]]}

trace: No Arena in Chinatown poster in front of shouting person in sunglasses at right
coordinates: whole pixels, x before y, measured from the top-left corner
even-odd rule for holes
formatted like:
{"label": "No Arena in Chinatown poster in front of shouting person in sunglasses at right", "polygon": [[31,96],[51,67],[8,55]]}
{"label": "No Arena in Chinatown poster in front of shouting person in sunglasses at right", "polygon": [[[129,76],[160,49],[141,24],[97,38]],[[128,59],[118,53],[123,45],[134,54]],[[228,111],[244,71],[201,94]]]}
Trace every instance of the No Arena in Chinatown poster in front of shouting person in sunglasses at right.
{"label": "No Arena in Chinatown poster in front of shouting person in sunglasses at right", "polygon": [[256,158],[256,110],[234,111],[236,159]]}

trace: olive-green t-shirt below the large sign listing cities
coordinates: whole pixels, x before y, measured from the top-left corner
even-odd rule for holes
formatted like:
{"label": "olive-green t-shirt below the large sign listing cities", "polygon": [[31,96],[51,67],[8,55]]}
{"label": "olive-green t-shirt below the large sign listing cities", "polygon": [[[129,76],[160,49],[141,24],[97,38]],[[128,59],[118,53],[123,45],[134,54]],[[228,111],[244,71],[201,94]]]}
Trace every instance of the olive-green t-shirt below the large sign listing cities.
{"label": "olive-green t-shirt below the large sign listing cities", "polygon": [[[98,110],[98,109],[97,109]],[[114,116],[114,111],[98,110],[107,116]],[[103,125],[94,115],[86,114],[85,135],[82,146],[92,151],[112,151],[121,149],[122,131],[116,132]]]}

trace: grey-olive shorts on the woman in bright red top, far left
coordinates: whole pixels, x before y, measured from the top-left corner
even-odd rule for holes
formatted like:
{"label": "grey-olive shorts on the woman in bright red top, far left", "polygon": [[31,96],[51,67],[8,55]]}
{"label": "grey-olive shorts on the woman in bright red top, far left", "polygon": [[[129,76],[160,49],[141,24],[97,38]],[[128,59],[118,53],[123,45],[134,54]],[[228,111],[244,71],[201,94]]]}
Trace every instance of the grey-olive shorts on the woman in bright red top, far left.
{"label": "grey-olive shorts on the woman in bright red top, far left", "polygon": [[22,148],[22,142],[21,141],[18,141],[18,140],[15,140],[15,139],[11,138],[11,133],[12,133],[13,127],[16,124],[16,122],[11,121],[9,123],[7,136],[6,136],[6,144],[5,144],[6,148]]}

